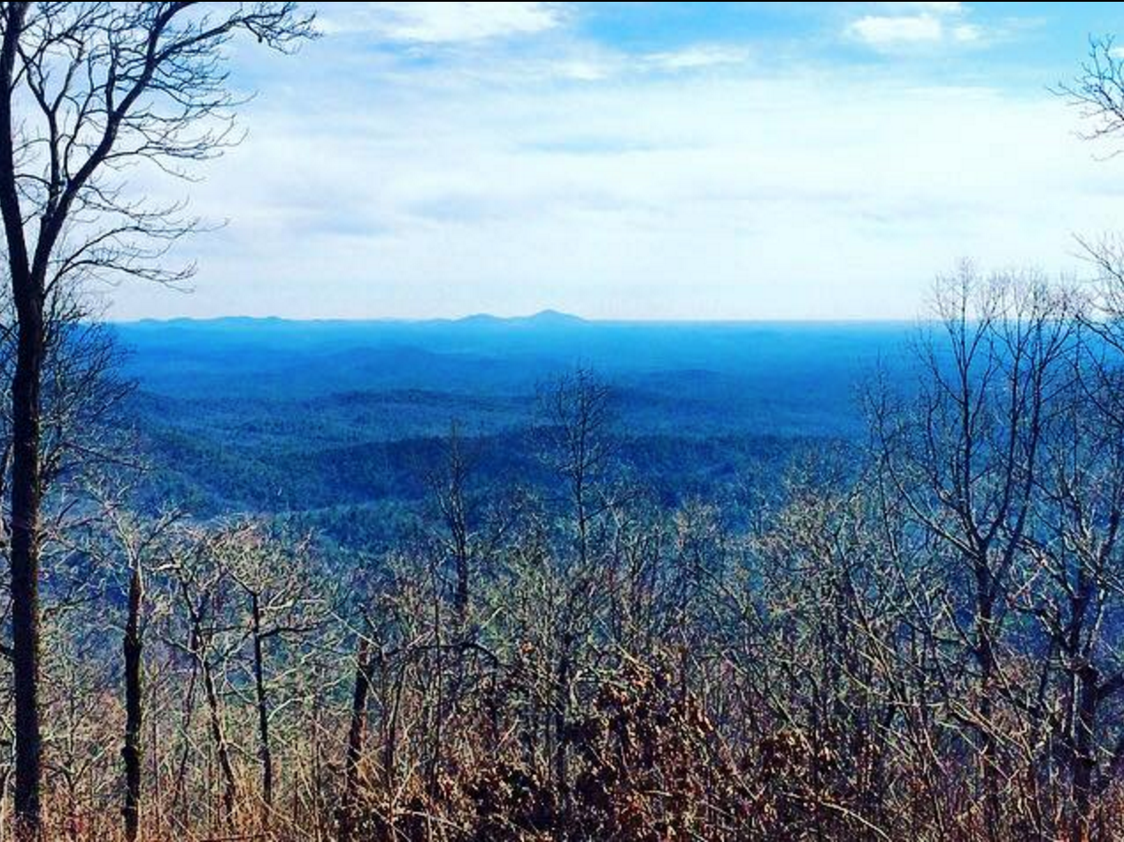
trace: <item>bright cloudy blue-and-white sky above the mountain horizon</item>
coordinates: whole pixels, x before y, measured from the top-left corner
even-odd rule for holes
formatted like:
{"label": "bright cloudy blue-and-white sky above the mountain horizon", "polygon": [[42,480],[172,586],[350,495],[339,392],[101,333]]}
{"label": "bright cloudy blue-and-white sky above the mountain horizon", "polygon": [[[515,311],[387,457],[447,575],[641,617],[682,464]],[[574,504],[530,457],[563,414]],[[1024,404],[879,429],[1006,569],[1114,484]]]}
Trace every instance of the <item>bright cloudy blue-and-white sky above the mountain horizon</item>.
{"label": "bright cloudy blue-and-white sky above the mountain horizon", "polygon": [[[191,291],[116,319],[913,319],[962,258],[1080,275],[1124,155],[1052,92],[1124,3],[303,3]],[[1085,126],[1088,128],[1088,126]]]}

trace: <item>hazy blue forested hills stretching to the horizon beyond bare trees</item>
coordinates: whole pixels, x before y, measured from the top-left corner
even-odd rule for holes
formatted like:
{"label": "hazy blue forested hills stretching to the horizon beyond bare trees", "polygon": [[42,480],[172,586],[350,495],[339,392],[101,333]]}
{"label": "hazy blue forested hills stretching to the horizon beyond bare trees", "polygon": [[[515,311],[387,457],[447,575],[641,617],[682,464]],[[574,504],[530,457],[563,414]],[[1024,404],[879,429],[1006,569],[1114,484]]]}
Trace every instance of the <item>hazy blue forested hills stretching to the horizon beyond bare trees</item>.
{"label": "hazy blue forested hills stretching to the horizon beyond bare trees", "polygon": [[[714,496],[776,481],[799,454],[861,434],[858,384],[877,367],[895,370],[917,328],[544,311],[148,320],[114,330],[138,385],[153,500],[206,514],[314,512],[332,533],[324,519],[341,507],[386,521],[388,507],[423,501],[454,421],[486,475],[533,482],[542,472],[531,438],[536,392],[578,366],[611,384],[620,458],[656,494]],[[360,543],[373,540],[361,531]]]}

